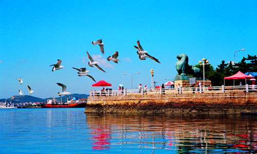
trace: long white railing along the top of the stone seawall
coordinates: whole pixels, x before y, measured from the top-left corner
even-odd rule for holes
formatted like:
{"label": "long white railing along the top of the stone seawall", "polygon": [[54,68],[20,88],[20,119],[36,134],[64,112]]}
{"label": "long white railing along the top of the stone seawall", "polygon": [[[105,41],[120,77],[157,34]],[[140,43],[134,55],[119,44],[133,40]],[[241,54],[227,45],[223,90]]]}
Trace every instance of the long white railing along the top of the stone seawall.
{"label": "long white railing along the top of the stone seawall", "polygon": [[256,85],[244,86],[215,86],[215,87],[175,87],[165,89],[124,89],[124,90],[91,90],[90,96],[114,96],[114,95],[151,95],[151,94],[181,94],[181,93],[219,93],[226,91],[257,91]]}

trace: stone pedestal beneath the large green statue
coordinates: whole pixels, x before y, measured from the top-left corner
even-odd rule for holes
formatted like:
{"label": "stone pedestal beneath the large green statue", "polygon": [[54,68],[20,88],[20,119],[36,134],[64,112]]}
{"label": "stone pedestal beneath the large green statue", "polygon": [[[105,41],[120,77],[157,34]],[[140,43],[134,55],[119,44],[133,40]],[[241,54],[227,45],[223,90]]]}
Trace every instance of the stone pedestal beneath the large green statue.
{"label": "stone pedestal beneath the large green statue", "polygon": [[[191,87],[192,84],[190,84],[189,79],[190,78],[195,78],[193,76],[187,76],[187,75],[176,75],[175,76],[175,87],[179,84],[180,87]],[[197,84],[198,82],[201,82],[201,85],[204,86],[204,80],[201,78],[195,78],[195,84]],[[211,81],[206,79],[205,80],[205,86],[210,86],[211,85]]]}

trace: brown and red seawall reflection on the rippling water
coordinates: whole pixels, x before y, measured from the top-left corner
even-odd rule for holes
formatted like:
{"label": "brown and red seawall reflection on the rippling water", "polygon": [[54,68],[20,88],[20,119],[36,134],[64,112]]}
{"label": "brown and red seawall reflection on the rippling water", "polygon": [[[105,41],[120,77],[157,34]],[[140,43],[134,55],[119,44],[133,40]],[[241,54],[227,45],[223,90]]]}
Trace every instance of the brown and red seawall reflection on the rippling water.
{"label": "brown and red seawall reflection on the rippling water", "polygon": [[241,115],[86,114],[93,149],[151,153],[257,151],[257,117]]}

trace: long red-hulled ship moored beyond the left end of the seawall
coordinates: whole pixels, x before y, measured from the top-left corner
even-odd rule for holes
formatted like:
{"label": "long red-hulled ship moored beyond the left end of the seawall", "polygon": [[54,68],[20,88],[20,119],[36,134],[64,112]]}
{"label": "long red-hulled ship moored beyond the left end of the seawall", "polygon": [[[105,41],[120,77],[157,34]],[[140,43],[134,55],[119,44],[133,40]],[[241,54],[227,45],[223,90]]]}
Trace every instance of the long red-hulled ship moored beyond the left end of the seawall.
{"label": "long red-hulled ship moored beyond the left end of the seawall", "polygon": [[56,100],[47,100],[46,104],[42,104],[42,108],[79,108],[86,107],[86,99],[77,101],[67,101],[67,103],[57,103]]}

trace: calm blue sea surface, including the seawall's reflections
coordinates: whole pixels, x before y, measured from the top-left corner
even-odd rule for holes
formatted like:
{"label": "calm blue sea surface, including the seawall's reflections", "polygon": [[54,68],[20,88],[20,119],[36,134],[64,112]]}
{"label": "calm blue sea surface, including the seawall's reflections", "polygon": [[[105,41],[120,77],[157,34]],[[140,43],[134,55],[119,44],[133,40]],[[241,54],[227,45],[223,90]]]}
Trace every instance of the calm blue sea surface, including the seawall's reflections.
{"label": "calm blue sea surface, including the seawall's reflections", "polygon": [[257,116],[1,109],[0,153],[256,153]]}

